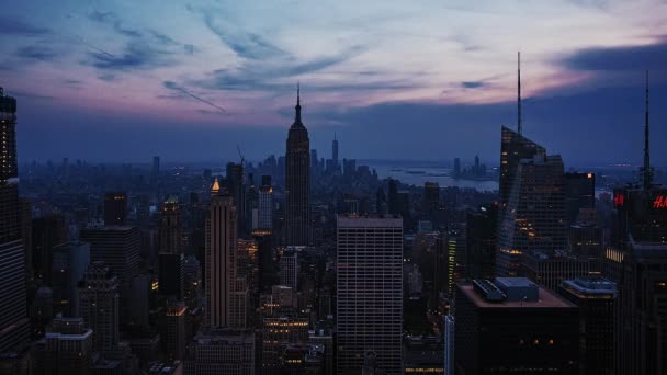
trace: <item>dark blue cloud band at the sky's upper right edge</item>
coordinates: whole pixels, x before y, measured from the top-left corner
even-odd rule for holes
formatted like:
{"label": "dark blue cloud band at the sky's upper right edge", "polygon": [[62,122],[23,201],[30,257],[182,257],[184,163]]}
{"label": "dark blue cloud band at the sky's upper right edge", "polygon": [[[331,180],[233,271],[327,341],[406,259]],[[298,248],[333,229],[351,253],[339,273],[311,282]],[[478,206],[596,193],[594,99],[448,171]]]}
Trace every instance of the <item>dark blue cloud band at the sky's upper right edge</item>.
{"label": "dark blue cloud band at the sky's upper right edge", "polygon": [[645,46],[584,48],[565,57],[561,64],[575,70],[665,70],[667,69],[667,42]]}

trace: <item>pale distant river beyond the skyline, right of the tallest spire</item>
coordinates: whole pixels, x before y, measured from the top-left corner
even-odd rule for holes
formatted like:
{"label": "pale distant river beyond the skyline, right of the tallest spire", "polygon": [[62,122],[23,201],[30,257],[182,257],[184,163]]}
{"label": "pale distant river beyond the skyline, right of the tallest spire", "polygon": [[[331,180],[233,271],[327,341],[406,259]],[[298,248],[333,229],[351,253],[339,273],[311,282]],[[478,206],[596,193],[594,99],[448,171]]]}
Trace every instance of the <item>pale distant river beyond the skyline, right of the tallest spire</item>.
{"label": "pale distant river beyond the skyline, right of the tallest spire", "polygon": [[432,161],[360,160],[358,163],[369,166],[371,170],[375,169],[381,179],[393,178],[409,185],[423,186],[425,182],[430,181],[438,182],[440,188],[474,188],[483,192],[498,190],[496,179],[487,181],[452,179],[450,177],[451,168],[439,166]]}

